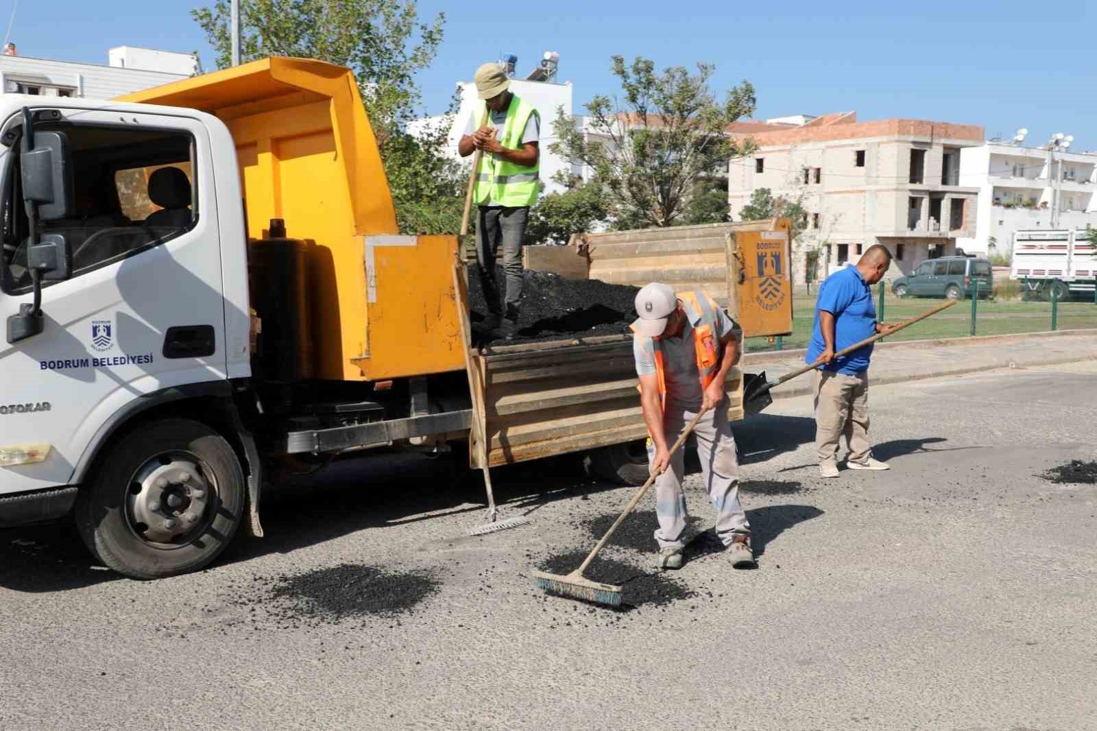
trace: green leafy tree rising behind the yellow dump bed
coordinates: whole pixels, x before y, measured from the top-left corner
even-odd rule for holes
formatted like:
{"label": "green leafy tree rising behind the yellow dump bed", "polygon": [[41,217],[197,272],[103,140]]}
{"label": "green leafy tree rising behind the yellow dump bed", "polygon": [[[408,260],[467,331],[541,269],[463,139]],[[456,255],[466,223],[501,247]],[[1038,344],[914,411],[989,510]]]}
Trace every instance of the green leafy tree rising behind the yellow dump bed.
{"label": "green leafy tree rising behind the yellow dump bed", "polygon": [[[227,67],[228,0],[191,15],[214,48],[217,68]],[[452,115],[420,135],[406,128],[422,111],[416,76],[438,54],[444,22],[443,13],[420,22],[414,0],[240,0],[241,61],[299,56],[354,72],[406,233],[453,233],[461,222],[461,167],[444,155]]]}

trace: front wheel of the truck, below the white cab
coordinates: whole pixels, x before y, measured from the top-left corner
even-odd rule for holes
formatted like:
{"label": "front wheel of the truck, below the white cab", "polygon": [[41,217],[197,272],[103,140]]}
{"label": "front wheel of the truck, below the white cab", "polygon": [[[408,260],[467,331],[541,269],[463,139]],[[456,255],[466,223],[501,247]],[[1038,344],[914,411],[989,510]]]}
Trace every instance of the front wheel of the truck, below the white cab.
{"label": "front wheel of the truck, below the white cab", "polygon": [[76,504],[77,529],[131,578],[202,569],[240,525],[244,470],[214,429],[189,419],[142,425],[100,459]]}

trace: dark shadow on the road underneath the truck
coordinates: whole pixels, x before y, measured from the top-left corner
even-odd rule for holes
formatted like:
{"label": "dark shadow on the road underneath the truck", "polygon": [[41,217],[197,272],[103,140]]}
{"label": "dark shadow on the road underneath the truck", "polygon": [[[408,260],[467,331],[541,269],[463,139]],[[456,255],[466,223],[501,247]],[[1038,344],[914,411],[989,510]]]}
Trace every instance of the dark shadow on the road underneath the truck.
{"label": "dark shadow on the road underneath the truck", "polygon": [[[504,517],[619,487],[586,476],[578,456],[496,468],[491,481]],[[291,553],[359,530],[422,522],[429,531],[429,521],[442,516],[468,514],[471,527],[482,521],[485,505],[480,473],[461,458],[394,453],[347,460],[314,477],[264,490],[260,515],[265,537],[238,533],[213,565]],[[69,522],[0,530],[0,587],[64,592],[118,578],[99,565]]]}

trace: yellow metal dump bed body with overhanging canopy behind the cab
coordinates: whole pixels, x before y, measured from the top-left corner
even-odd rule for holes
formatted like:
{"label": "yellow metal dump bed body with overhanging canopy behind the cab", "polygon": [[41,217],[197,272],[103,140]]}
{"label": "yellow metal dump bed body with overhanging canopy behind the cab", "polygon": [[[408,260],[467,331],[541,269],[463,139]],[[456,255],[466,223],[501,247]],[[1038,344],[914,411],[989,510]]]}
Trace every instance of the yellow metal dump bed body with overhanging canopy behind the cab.
{"label": "yellow metal dump bed body with overhanging canopy behind the cab", "polygon": [[265,237],[270,220],[282,218],[289,237],[309,241],[318,378],[464,368],[450,273],[456,237],[397,235],[377,140],[349,69],[268,58],[118,101],[196,109],[228,126],[249,237]]}

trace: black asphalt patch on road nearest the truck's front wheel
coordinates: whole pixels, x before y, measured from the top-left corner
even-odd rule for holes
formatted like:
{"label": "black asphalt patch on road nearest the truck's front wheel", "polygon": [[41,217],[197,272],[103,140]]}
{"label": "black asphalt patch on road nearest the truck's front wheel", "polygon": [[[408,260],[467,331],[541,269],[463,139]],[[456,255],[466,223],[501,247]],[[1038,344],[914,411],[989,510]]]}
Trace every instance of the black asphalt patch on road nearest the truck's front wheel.
{"label": "black asphalt patch on road nearest the truck's front wheel", "polygon": [[283,627],[392,619],[411,614],[440,585],[428,572],[393,572],[352,563],[257,581],[268,585],[270,600],[262,603],[268,620]]}

